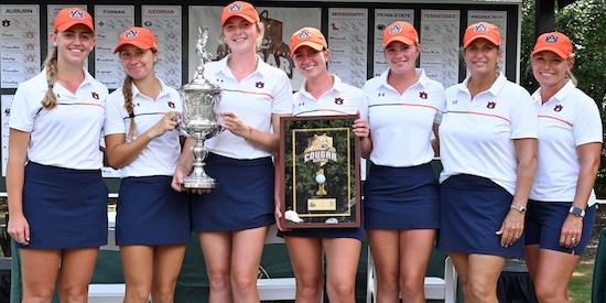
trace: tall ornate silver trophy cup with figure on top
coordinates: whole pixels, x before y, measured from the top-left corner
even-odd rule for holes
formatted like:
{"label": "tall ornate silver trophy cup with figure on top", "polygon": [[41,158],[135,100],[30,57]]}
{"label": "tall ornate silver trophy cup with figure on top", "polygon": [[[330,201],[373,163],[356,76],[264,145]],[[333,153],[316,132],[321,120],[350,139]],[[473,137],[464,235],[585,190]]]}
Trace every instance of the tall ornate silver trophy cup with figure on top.
{"label": "tall ornate silver trophy cup with figure on top", "polygon": [[217,182],[204,171],[204,160],[208,154],[204,141],[221,132],[221,127],[217,122],[221,88],[204,78],[204,65],[210,61],[210,54],[204,50],[208,39],[208,30],[198,30],[196,53],[202,63],[196,68],[192,82],[181,88],[185,106],[183,127],[195,140],[192,148],[194,170],[190,176],[185,177],[183,186],[185,188],[215,188]]}

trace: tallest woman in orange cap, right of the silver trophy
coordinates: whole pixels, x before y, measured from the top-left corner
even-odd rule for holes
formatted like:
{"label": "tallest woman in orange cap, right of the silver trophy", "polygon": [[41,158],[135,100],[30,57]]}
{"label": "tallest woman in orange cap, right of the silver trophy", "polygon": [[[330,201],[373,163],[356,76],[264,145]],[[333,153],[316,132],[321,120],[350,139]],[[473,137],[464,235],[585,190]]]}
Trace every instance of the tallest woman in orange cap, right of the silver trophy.
{"label": "tallest woman in orange cap, right of the silver trophy", "polygon": [[[192,226],[198,232],[210,282],[209,302],[259,302],[257,277],[269,226],[274,223],[274,166],[280,116],[292,112],[286,74],[258,55],[264,33],[252,4],[236,1],[221,15],[221,40],[229,54],[205,65],[204,76],[221,87],[219,106],[226,131],[206,140],[210,193],[193,196]],[[173,188],[193,165],[187,140]]]}

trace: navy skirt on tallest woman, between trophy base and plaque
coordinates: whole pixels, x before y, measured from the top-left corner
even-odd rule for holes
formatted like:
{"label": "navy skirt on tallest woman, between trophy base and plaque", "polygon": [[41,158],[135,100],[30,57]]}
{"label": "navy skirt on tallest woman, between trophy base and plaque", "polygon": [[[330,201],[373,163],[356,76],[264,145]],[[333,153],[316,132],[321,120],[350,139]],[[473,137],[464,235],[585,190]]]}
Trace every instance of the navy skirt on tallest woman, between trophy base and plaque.
{"label": "navy skirt on tallest woman, between trophy base and plaque", "polygon": [[193,230],[245,230],[275,221],[271,158],[237,160],[209,153],[204,162],[218,185],[192,195]]}

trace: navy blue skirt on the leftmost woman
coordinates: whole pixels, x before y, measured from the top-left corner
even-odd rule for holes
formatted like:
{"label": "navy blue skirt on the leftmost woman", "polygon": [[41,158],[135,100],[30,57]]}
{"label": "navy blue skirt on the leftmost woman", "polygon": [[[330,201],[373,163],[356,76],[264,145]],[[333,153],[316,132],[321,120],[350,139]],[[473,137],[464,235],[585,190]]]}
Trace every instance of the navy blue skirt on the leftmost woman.
{"label": "navy blue skirt on the leftmost woman", "polygon": [[74,249],[107,244],[107,185],[100,170],[71,170],[29,162],[23,214],[32,249]]}

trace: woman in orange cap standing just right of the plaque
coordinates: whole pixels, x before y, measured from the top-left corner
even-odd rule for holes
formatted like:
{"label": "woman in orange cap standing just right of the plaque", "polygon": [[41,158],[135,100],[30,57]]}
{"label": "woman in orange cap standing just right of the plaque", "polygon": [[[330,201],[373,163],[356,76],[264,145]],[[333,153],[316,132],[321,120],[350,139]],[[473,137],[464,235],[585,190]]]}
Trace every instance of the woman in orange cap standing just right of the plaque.
{"label": "woman in orange cap standing just right of the plaque", "polygon": [[[383,31],[389,68],[369,79],[370,167],[364,224],[377,268],[377,302],[425,302],[424,278],[440,228],[435,155],[444,87],[416,68],[419,34],[398,21]],[[397,138],[397,140],[394,140]]]}

